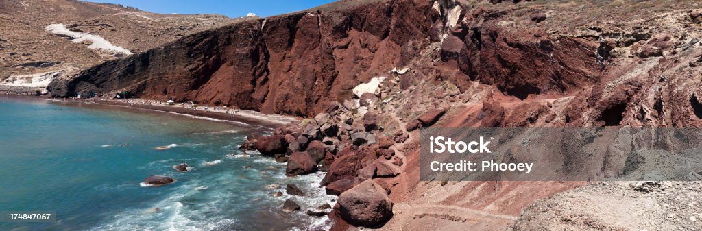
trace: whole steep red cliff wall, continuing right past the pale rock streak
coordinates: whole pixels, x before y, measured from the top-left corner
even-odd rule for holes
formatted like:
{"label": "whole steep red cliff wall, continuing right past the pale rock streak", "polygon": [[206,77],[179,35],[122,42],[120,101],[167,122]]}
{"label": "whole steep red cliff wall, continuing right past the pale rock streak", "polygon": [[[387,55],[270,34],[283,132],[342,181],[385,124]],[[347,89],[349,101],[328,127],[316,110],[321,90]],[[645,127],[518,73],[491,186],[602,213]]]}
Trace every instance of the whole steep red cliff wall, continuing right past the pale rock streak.
{"label": "whole steep red cliff wall, continuing right past the pale rock streak", "polygon": [[[423,79],[470,81],[529,94],[597,81],[597,43],[552,38],[541,29],[504,31],[494,13],[454,1],[338,2],[310,11],[251,19],[200,32],[49,86],[54,96],[123,88],[143,98],[234,105],[310,116],[329,101],[392,68],[416,66],[404,87]],[[466,10],[463,10],[463,9]],[[416,63],[432,48],[435,63]]]}

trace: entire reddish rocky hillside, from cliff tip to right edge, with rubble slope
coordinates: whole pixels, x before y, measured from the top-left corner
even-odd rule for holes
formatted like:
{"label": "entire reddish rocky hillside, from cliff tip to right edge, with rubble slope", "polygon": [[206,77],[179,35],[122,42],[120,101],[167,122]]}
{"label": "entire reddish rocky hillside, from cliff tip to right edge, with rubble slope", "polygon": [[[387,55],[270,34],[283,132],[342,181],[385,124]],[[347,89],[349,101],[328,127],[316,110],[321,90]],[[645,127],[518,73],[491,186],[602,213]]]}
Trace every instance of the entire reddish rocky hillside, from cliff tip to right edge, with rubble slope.
{"label": "entire reddish rocky hillside, from cliff tip to right edge, with rubble slope", "polygon": [[[126,88],[142,98],[309,117],[244,146],[293,163],[314,158],[310,166],[327,171],[321,185],[334,192],[356,185],[390,192],[392,215],[377,217],[392,219],[368,225],[340,206],[331,213],[338,230],[531,230],[542,224],[578,230],[581,223],[540,220],[550,218],[530,205],[552,197],[538,203],[567,210],[564,200],[587,194],[578,205],[598,213],[608,209],[597,200],[611,186],[554,197],[588,183],[420,181],[419,131],[699,127],[701,32],[702,6],[692,0],[338,1],[205,30],[100,63],[48,89],[70,97]],[[312,147],[319,153],[303,158]],[[291,172],[312,171],[304,170]],[[369,179],[380,186],[362,184]],[[610,215],[642,214],[636,205],[616,204]],[[646,219],[635,214],[628,219]],[[588,218],[613,230],[627,227],[625,220]],[[685,222],[693,227],[695,221]]]}

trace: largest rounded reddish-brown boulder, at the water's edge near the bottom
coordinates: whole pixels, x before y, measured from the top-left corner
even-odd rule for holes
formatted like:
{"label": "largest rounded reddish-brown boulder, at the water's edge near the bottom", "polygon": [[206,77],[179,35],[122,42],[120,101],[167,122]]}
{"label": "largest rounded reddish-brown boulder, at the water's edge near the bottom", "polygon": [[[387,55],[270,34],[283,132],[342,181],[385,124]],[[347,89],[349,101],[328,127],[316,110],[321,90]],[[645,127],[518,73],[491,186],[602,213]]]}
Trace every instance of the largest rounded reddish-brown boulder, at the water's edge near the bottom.
{"label": "largest rounded reddish-brown boulder, at the water's edge near the bottom", "polygon": [[392,218],[392,202],[385,189],[366,180],[339,195],[339,213],[351,225],[373,227]]}

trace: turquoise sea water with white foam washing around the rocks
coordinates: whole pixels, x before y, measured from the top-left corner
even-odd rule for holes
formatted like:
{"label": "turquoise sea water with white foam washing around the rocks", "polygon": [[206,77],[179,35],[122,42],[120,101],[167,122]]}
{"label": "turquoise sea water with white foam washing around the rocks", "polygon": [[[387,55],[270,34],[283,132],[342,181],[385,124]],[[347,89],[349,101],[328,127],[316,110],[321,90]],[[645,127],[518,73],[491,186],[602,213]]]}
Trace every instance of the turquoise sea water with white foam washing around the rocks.
{"label": "turquoise sea water with white foam washing around the rocks", "polygon": [[[0,230],[305,230],[328,225],[326,218],[280,211],[289,198],[303,210],[333,203],[317,188],[321,176],[286,178],[285,164],[257,153],[226,155],[240,152],[249,128],[174,114],[0,100],[0,211],[55,211],[58,220],[0,223]],[[154,150],[170,144],[177,146]],[[220,164],[204,164],[215,160]],[[171,168],[183,162],[194,169],[178,173]],[[152,175],[178,181],[139,185]],[[272,183],[282,189],[265,190]],[[272,197],[287,183],[310,195]],[[208,188],[195,190],[201,186]]]}

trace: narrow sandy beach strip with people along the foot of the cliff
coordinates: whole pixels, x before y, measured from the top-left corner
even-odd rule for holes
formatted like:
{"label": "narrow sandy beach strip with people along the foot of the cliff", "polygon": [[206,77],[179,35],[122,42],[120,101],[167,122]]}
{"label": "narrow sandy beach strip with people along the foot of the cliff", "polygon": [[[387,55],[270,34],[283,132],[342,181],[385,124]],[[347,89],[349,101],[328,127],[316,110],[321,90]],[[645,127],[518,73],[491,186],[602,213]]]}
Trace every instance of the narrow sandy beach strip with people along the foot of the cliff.
{"label": "narrow sandy beach strip with people along the foot of the cliff", "polygon": [[[262,127],[261,130],[273,130],[279,126],[289,124],[293,121],[300,121],[298,117],[279,115],[279,114],[263,114],[252,110],[238,110],[236,114],[227,114],[223,110],[213,110],[211,107],[204,110],[202,106],[197,109],[183,107],[180,103],[176,105],[165,105],[158,100],[145,99],[128,99],[116,100],[107,98],[91,98],[91,99],[76,99],[76,98],[48,98],[34,95],[0,95],[0,98],[9,98],[15,100],[45,100],[50,103],[65,103],[72,105],[100,105],[108,109],[116,109],[115,107],[127,108],[129,110],[147,110],[150,112],[179,114],[189,116],[194,119],[205,119],[209,121],[225,122],[229,124],[243,124],[244,126]],[[209,106],[208,106],[209,107]],[[230,110],[231,111],[231,110]]]}

